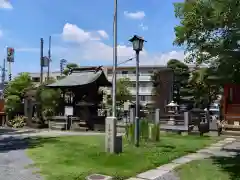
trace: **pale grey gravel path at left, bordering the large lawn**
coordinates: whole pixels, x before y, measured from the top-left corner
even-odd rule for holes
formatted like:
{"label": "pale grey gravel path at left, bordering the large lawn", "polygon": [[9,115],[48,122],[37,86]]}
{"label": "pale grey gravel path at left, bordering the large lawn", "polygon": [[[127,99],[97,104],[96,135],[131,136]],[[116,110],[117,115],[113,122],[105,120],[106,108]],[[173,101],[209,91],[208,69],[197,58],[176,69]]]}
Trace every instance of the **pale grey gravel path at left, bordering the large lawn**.
{"label": "pale grey gravel path at left, bordering the large lawn", "polygon": [[101,135],[102,133],[59,132],[59,131],[14,131],[0,129],[0,180],[43,180],[38,170],[27,167],[33,161],[27,157],[27,141],[24,138],[32,136],[56,137],[72,135]]}

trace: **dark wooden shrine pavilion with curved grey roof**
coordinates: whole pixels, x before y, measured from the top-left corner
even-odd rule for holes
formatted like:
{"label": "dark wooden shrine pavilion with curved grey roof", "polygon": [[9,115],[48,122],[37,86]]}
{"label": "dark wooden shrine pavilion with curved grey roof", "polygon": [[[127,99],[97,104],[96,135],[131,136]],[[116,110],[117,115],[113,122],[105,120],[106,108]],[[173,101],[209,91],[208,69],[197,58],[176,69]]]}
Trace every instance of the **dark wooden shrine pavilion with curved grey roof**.
{"label": "dark wooden shrine pavilion with curved grey roof", "polygon": [[[75,129],[85,123],[87,129],[94,130],[96,124],[104,124],[105,117],[98,116],[103,94],[99,87],[110,87],[101,67],[75,68],[70,74],[57,82],[47,85],[62,91],[62,103],[58,115],[50,120],[50,127]],[[69,112],[72,111],[69,115]],[[65,122],[65,123],[64,123]]]}

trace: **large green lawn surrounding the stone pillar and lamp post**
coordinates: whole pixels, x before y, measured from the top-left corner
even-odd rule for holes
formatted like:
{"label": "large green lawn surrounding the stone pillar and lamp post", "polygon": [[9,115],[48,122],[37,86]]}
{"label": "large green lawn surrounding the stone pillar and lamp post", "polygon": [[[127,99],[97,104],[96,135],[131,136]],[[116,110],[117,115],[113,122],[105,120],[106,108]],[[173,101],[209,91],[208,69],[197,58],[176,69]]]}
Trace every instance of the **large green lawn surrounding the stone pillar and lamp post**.
{"label": "large green lawn surrounding the stone pillar and lamp post", "polygon": [[139,148],[124,142],[119,155],[104,152],[104,136],[32,138],[29,156],[47,180],[82,180],[91,173],[125,179],[195,152],[216,141],[198,136],[162,135]]}

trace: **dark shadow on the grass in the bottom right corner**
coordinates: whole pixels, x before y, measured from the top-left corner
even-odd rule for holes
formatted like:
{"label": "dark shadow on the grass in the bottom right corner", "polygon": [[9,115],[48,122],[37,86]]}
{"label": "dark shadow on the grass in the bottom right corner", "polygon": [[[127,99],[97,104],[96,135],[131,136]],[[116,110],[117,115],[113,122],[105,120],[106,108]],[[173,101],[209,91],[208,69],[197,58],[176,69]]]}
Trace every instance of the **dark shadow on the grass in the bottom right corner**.
{"label": "dark shadow on the grass in the bottom right corner", "polygon": [[240,180],[240,149],[227,148],[224,151],[237,154],[229,157],[213,157],[214,163],[229,174],[230,180]]}

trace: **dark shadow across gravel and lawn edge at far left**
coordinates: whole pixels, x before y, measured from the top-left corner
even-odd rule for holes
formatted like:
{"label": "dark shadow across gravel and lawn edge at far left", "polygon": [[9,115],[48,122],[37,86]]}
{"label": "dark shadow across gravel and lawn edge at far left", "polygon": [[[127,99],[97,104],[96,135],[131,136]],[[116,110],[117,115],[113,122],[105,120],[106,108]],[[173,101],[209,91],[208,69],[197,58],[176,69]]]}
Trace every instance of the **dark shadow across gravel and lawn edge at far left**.
{"label": "dark shadow across gravel and lawn edge at far left", "polygon": [[56,137],[5,137],[0,139],[0,153],[41,147],[46,143],[55,143],[57,141]]}

